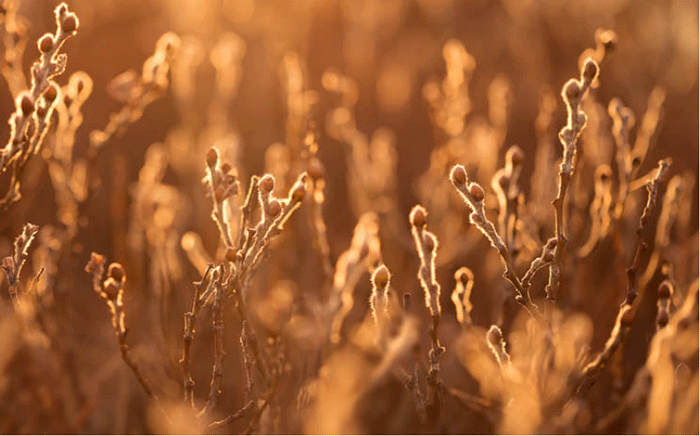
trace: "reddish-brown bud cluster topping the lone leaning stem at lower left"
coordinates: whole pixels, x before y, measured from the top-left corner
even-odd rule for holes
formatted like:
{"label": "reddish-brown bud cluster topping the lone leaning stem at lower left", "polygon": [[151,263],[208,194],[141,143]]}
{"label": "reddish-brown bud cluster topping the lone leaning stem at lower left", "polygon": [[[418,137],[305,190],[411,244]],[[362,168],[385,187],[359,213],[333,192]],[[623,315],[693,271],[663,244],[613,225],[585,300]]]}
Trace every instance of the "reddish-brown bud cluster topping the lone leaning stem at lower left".
{"label": "reddish-brown bud cluster topping the lone leaning stem at lower left", "polygon": [[85,271],[92,275],[92,288],[97,295],[102,297],[112,314],[112,327],[121,338],[126,336],[126,319],[124,312],[124,282],[126,275],[124,267],[118,263],[112,263],[107,269],[107,279],[102,281],[104,274],[105,257],[92,253],[85,266]]}

